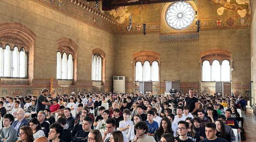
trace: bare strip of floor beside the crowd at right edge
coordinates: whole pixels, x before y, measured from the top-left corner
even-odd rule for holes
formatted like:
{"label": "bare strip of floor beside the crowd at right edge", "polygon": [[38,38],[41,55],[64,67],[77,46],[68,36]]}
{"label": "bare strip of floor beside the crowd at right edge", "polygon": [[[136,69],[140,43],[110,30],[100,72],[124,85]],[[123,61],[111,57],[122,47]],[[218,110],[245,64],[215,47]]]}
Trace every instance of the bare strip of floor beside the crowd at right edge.
{"label": "bare strip of floor beside the crowd at right edge", "polygon": [[246,140],[242,140],[241,142],[256,142],[256,119],[253,115],[253,108],[247,106],[246,114],[242,112],[242,116],[244,118],[244,130],[247,135]]}

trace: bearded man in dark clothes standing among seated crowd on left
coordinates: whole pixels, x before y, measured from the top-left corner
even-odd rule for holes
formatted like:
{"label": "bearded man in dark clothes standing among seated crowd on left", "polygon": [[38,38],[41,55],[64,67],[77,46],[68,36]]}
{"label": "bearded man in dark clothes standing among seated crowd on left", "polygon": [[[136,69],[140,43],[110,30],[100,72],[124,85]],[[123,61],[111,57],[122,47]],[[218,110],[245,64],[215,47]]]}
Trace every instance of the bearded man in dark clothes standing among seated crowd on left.
{"label": "bearded man in dark clothes standing among seated crowd on left", "polygon": [[41,94],[38,96],[37,102],[36,102],[36,112],[45,110],[45,105],[52,105],[50,102],[46,102],[46,96],[48,95],[49,90],[43,89],[41,91]]}

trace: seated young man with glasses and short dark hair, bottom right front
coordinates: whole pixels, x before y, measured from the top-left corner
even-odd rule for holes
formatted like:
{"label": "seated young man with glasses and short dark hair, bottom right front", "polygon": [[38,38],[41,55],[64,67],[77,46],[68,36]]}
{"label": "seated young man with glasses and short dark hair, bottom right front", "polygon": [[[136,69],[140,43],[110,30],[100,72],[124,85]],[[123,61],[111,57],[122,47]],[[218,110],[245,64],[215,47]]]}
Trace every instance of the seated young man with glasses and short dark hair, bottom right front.
{"label": "seated young man with glasses and short dark hair, bottom right front", "polygon": [[179,136],[176,137],[177,142],[194,142],[193,140],[189,139],[187,132],[189,128],[189,123],[185,121],[179,121],[178,122],[178,133]]}

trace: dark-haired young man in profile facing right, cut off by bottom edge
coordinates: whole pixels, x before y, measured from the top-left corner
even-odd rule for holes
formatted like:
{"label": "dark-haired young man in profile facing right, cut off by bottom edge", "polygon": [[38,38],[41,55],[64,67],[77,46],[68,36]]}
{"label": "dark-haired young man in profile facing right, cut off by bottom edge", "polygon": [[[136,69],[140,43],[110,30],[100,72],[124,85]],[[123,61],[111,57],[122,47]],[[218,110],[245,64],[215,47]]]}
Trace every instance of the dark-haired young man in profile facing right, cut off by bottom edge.
{"label": "dark-haired young man in profile facing right, cut off by bottom edge", "polygon": [[61,127],[58,123],[53,123],[50,125],[50,132],[48,136],[48,140],[52,140],[52,142],[64,142],[61,140],[61,135],[63,134],[63,127]]}

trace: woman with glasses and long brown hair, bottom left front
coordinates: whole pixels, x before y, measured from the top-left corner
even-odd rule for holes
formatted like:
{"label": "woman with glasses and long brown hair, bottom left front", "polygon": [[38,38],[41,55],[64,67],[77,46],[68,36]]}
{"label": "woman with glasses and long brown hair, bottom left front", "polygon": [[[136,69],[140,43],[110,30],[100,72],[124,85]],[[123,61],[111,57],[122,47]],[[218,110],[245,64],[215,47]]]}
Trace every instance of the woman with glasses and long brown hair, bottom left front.
{"label": "woman with glasses and long brown hair, bottom left front", "polygon": [[29,126],[22,126],[19,129],[19,138],[16,142],[33,142],[35,139],[33,137],[33,131]]}

